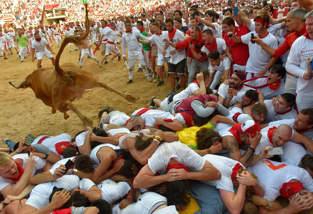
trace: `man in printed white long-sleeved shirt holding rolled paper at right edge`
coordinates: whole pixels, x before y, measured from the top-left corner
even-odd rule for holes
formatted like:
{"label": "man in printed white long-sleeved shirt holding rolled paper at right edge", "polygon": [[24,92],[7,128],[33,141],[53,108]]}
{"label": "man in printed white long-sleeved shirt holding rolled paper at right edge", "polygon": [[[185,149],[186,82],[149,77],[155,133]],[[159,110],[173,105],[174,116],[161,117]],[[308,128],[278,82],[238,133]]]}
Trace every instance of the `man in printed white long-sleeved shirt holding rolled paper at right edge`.
{"label": "man in printed white long-sleeved shirt holding rolled paper at right edge", "polygon": [[297,111],[313,107],[313,74],[310,73],[306,60],[313,57],[313,11],[305,15],[306,31],[302,36],[297,38],[292,44],[286,70],[298,78],[296,89]]}

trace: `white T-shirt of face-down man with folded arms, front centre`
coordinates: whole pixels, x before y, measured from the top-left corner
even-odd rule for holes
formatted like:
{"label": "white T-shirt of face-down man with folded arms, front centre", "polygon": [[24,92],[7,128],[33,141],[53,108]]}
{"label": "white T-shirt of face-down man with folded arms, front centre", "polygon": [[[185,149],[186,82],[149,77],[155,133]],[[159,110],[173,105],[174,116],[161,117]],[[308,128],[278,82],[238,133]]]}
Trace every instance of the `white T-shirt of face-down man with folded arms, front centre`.
{"label": "white T-shirt of face-down man with folded arms, front centre", "polygon": [[206,161],[189,149],[186,144],[174,141],[159,145],[151,158],[148,159],[148,166],[153,173],[159,172],[164,175],[167,173],[167,166],[171,158],[177,160],[192,172],[201,171]]}

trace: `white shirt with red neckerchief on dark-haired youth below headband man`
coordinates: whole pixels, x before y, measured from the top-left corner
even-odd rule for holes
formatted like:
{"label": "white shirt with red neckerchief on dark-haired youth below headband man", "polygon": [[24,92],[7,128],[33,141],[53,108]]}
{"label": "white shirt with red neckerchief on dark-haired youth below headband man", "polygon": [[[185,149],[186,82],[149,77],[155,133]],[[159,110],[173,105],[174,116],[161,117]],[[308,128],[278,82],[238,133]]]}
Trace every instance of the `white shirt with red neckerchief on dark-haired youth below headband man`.
{"label": "white shirt with red neckerchief on dark-haired youth below headband man", "polygon": [[269,84],[267,76],[254,77],[246,79],[244,85],[255,88],[258,92],[264,94],[264,99],[272,99],[273,97],[280,96],[284,93],[285,83],[278,80],[275,83]]}

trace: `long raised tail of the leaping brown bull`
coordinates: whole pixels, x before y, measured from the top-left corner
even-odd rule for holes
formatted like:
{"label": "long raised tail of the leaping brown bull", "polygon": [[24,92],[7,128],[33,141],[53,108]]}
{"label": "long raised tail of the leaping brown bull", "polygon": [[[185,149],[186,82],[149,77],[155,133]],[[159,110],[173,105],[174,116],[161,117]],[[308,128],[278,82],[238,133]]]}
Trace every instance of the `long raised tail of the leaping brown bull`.
{"label": "long raised tail of the leaping brown bull", "polygon": [[56,57],[55,57],[55,64],[54,64],[54,68],[56,70],[56,72],[62,76],[62,77],[65,77],[64,76],[64,70],[62,68],[60,68],[59,66],[59,60],[60,60],[60,56],[65,48],[65,46],[68,44],[68,43],[74,43],[76,44],[77,46],[82,46],[82,47],[86,47],[86,44],[84,43],[84,39],[87,38],[89,36],[89,18],[88,18],[88,9],[87,9],[87,6],[88,4],[84,4],[85,5],[85,11],[86,11],[86,20],[85,20],[85,27],[86,27],[86,31],[85,31],[85,34],[83,36],[68,36],[66,37],[61,46],[60,46],[60,49],[59,49],[59,52],[57,53]]}

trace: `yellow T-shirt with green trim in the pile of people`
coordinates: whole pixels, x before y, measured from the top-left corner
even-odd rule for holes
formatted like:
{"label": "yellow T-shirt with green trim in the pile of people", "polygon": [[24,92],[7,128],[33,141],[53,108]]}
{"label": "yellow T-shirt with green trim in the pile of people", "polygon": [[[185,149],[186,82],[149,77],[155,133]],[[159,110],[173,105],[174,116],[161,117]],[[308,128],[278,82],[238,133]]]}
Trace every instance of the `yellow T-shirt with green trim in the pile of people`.
{"label": "yellow T-shirt with green trim in the pile of people", "polygon": [[192,127],[183,129],[181,131],[177,131],[176,135],[178,135],[180,142],[194,149],[198,149],[198,144],[196,142],[196,134],[197,134],[197,131],[199,131],[202,128],[214,129],[214,125],[208,122],[207,124],[200,126],[200,127],[192,126]]}

